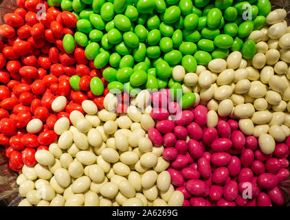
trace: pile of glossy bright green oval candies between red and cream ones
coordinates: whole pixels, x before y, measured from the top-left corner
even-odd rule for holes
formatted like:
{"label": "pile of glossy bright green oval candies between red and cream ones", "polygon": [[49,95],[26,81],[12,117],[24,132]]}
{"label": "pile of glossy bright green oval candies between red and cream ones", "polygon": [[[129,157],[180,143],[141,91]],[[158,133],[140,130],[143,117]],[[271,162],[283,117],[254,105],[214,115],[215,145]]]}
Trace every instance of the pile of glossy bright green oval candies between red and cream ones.
{"label": "pile of glossy bright green oval candies between red and cream ones", "polygon": [[252,58],[256,44],[247,36],[263,28],[271,11],[269,0],[49,0],[52,4],[78,18],[74,37],[63,39],[65,51],[74,52],[74,40],[85,47],[97,69],[110,66],[102,73],[108,89],[121,92],[180,89],[181,82],[172,79],[175,65],[195,72],[197,65],[230,51]]}

